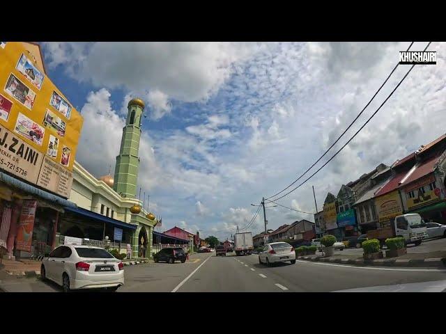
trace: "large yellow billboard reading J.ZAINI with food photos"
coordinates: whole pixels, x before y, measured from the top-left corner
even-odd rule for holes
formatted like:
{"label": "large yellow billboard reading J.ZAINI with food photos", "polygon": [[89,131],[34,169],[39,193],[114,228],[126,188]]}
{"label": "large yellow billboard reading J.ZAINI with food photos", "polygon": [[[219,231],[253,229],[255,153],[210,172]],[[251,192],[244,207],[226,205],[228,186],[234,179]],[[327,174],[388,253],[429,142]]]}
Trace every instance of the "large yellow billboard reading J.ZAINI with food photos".
{"label": "large yellow billboard reading J.ZAINI with food photos", "polygon": [[22,42],[0,45],[0,168],[63,197],[84,119]]}

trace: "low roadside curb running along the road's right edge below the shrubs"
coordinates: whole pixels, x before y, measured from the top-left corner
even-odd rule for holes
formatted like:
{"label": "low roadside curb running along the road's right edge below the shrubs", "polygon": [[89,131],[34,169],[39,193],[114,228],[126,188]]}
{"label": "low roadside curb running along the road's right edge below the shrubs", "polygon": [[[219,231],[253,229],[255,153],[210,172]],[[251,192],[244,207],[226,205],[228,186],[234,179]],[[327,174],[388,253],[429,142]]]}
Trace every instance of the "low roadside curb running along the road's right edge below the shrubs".
{"label": "low roadside curb running along the road's right edge below the shrubs", "polygon": [[310,262],[330,262],[337,264],[356,264],[362,266],[378,266],[378,267],[446,267],[446,258],[428,258],[428,259],[330,259],[329,257],[308,257],[299,256],[298,260]]}

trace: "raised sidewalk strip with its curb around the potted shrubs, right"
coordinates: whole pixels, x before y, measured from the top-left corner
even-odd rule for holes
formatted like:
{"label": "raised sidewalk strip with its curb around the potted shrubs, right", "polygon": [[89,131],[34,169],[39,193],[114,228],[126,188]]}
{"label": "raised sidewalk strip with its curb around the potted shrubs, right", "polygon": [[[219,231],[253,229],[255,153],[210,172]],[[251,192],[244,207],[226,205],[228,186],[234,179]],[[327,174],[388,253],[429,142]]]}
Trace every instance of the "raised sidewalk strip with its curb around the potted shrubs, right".
{"label": "raised sidewalk strip with its curb around the potted shrubs, right", "polygon": [[[298,260],[314,262],[332,262],[341,264],[372,265],[385,267],[446,267],[446,250],[429,253],[410,253],[399,257],[384,257],[378,260],[364,260],[362,255],[337,253],[330,257],[323,257],[322,253],[297,257]],[[385,256],[385,252],[383,251]]]}

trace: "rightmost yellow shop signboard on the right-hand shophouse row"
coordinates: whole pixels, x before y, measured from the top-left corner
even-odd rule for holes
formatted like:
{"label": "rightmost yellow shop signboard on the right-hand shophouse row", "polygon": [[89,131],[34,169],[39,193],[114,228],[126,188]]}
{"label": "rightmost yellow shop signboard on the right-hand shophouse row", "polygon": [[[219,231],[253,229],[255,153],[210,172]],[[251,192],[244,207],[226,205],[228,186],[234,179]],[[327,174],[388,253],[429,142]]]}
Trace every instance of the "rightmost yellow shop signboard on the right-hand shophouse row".
{"label": "rightmost yellow shop signboard on the right-hand shophouse row", "polygon": [[406,205],[409,210],[431,204],[440,199],[440,189],[436,186],[431,189],[429,186],[429,184],[432,184],[433,182],[435,182],[435,176],[431,174],[412,182],[403,189],[406,196]]}

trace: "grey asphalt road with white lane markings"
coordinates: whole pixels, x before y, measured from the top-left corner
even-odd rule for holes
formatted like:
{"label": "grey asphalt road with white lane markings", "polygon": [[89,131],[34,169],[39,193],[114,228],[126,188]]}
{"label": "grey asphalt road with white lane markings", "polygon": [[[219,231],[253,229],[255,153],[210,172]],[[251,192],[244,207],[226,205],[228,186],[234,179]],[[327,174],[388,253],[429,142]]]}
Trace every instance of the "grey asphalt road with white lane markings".
{"label": "grey asphalt road with white lane markings", "polygon": [[[1,279],[1,278],[0,278]],[[3,281],[8,291],[59,292],[54,283],[36,278]],[[125,267],[118,292],[335,292],[434,291],[446,289],[445,269],[352,267],[302,262],[265,267],[257,255],[192,255],[185,263],[151,263]]]}

